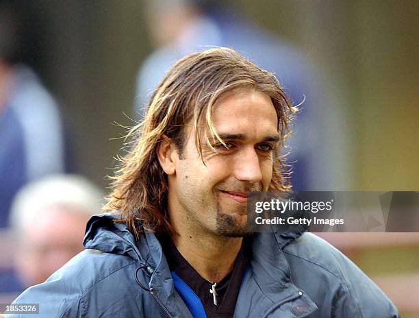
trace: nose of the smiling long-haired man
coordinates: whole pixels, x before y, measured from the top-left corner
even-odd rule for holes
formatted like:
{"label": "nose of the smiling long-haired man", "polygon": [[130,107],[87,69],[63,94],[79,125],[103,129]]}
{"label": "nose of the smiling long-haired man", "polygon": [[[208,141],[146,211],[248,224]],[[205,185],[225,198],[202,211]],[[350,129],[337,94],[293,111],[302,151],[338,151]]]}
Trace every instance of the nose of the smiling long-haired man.
{"label": "nose of the smiling long-haired man", "polygon": [[261,182],[262,169],[254,148],[243,149],[236,157],[234,174],[237,180]]}

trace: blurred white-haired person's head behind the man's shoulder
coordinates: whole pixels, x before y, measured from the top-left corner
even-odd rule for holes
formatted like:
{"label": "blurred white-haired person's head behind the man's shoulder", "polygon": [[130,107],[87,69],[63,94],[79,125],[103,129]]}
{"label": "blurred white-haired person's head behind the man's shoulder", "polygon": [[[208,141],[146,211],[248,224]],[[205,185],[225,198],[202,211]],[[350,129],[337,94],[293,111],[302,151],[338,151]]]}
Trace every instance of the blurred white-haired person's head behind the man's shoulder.
{"label": "blurred white-haired person's head behind the man's shoulder", "polygon": [[86,223],[103,193],[79,175],[51,175],[19,191],[12,205],[15,268],[23,286],[40,284],[82,245]]}

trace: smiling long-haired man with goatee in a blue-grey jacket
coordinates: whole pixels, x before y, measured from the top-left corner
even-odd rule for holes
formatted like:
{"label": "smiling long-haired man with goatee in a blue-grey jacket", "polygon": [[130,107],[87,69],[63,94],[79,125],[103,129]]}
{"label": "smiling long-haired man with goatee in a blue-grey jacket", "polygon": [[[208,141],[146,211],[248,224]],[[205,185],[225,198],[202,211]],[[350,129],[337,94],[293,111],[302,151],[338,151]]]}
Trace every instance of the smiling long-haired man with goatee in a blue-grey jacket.
{"label": "smiling long-haired man with goatee in a blue-grey jacket", "polygon": [[252,192],[290,191],[279,154],[294,112],[236,51],[179,60],[128,134],[88,249],[15,303],[42,317],[398,317],[314,234],[249,231]]}

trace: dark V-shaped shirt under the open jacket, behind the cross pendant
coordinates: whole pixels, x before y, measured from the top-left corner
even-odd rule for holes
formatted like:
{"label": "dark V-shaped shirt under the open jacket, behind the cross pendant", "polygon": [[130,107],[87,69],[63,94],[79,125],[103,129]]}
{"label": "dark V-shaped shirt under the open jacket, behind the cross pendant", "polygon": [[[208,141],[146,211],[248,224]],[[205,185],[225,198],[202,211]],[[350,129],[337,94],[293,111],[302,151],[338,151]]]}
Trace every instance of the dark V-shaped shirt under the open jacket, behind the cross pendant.
{"label": "dark V-shaped shirt under the open jacket, behind the cross pendant", "polygon": [[246,237],[243,239],[242,248],[234,261],[233,270],[223,280],[217,282],[215,287],[217,305],[214,305],[214,296],[210,293],[214,282],[209,282],[202,278],[189,265],[186,259],[181,256],[170,238],[164,238],[160,241],[162,242],[170,271],[175,271],[177,276],[188,284],[192,291],[201,299],[207,318],[233,317],[242,278],[251,259],[251,238]]}

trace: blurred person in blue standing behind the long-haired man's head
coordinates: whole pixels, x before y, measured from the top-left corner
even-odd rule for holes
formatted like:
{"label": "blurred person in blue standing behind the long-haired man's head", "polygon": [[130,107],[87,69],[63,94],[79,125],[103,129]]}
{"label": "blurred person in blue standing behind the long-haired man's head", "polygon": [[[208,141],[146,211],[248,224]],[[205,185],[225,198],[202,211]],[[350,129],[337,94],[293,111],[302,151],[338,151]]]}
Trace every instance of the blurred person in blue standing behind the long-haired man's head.
{"label": "blurred person in blue standing behind the long-haired man's head", "polygon": [[[346,156],[340,149],[342,130],[329,110],[327,97],[320,97],[318,71],[303,52],[281,38],[246,21],[238,10],[211,0],[148,0],[147,21],[157,47],[138,73],[134,118],[142,119],[153,89],[177,60],[193,51],[231,47],[263,69],[277,74],[294,104],[302,103],[296,127],[288,140],[292,184],[297,191],[343,187]],[[326,128],[329,133],[326,132]],[[342,132],[342,131],[341,131]],[[336,173],[336,171],[339,171]],[[342,176],[343,175],[343,176]]]}

